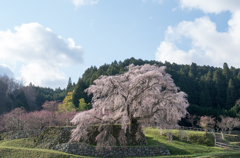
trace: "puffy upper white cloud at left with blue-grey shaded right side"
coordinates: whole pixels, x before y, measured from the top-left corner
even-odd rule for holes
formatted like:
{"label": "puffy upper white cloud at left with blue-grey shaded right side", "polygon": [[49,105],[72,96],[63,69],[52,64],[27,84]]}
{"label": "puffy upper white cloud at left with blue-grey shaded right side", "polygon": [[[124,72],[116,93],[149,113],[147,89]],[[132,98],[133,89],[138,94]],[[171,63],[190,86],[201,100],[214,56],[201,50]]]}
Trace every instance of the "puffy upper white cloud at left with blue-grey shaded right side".
{"label": "puffy upper white cloud at left with blue-grey shaded right side", "polygon": [[65,40],[38,23],[23,24],[14,30],[15,33],[0,31],[0,58],[22,62],[47,60],[54,65],[83,61],[83,50],[75,46],[73,39]]}

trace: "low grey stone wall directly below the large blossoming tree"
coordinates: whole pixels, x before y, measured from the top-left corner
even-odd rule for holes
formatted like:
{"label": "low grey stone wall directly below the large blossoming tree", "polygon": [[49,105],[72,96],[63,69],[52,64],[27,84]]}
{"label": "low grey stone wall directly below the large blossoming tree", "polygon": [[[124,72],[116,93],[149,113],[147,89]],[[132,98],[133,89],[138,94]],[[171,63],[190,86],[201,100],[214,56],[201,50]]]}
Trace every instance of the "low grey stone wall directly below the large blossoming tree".
{"label": "low grey stone wall directly below the large blossoming tree", "polygon": [[170,155],[168,148],[165,146],[112,147],[111,151],[106,148],[97,151],[96,147],[89,145],[80,147],[80,144],[78,143],[63,143],[57,145],[53,150],[94,157],[149,157]]}

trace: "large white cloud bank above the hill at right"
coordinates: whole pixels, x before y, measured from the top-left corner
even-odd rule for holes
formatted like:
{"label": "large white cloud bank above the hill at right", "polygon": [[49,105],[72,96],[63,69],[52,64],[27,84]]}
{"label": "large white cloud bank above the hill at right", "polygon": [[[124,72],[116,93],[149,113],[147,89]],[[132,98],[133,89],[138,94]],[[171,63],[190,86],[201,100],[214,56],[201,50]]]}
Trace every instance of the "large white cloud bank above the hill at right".
{"label": "large white cloud bank above the hill at right", "polygon": [[[220,0],[180,0],[183,8],[197,8],[209,13],[229,10],[232,16],[228,21],[228,31],[218,32],[216,24],[208,16],[194,21],[182,21],[176,27],[169,26],[165,40],[157,49],[156,60],[167,60],[178,64],[196,62],[199,65],[219,67],[227,62],[232,66],[240,67],[240,11],[237,11],[235,6],[239,1],[228,1],[228,3],[231,4]],[[212,10],[209,9],[211,6]],[[176,46],[184,38],[191,41],[191,48],[188,51],[180,50]]]}

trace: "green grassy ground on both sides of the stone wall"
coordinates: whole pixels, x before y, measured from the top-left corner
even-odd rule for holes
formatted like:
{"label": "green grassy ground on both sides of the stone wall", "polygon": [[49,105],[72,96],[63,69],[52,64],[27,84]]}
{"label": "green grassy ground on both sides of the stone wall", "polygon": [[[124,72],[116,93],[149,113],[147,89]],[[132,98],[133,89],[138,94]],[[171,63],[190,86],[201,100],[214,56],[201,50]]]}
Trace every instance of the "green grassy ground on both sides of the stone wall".
{"label": "green grassy ground on both sides of the stone wall", "polygon": [[[204,132],[186,131],[189,135],[190,141],[183,138],[179,140],[179,132],[173,130],[173,141],[170,142],[167,139],[166,134],[160,135],[159,130],[155,128],[144,128],[144,133],[148,141],[148,146],[156,146],[164,144],[168,147],[171,156],[154,156],[152,158],[160,157],[240,157],[240,152],[228,151],[219,147],[207,146],[205,144],[212,143],[211,138],[206,136]],[[209,141],[202,139],[205,137]],[[34,147],[34,138],[16,139],[11,141],[0,141],[0,157],[4,158],[75,158],[75,157],[87,157],[67,154],[64,152],[38,149]],[[204,144],[205,143],[205,144]]]}

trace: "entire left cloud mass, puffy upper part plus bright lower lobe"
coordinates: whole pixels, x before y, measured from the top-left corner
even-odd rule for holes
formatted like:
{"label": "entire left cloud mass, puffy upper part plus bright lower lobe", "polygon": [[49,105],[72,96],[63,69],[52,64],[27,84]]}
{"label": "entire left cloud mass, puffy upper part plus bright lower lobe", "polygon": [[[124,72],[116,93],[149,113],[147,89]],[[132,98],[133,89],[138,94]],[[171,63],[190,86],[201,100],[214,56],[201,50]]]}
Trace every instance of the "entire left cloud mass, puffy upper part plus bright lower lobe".
{"label": "entire left cloud mass, puffy upper part plus bright lower lobe", "polygon": [[52,87],[51,82],[67,81],[60,71],[62,66],[83,62],[83,49],[71,38],[64,39],[38,23],[23,24],[14,30],[0,31],[0,59],[24,64],[21,77],[27,83]]}

